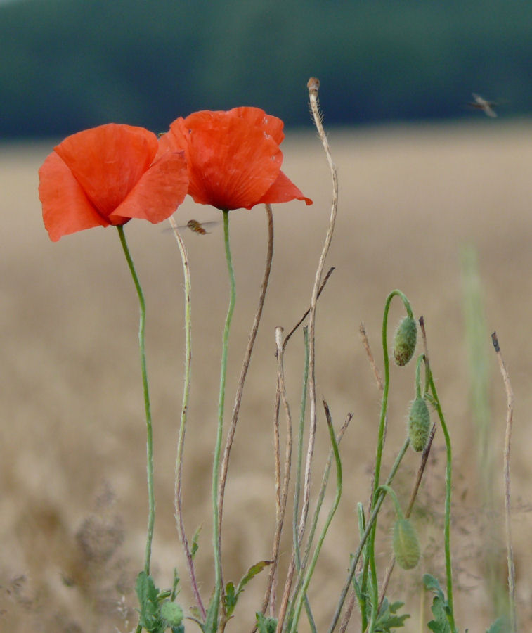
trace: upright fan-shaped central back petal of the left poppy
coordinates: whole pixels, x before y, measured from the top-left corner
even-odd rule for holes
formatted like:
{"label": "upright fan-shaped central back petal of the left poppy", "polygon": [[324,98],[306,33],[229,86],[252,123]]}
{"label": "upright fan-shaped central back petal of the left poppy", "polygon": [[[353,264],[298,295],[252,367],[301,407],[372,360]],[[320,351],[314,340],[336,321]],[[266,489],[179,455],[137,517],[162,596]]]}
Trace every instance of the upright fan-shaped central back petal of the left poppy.
{"label": "upright fan-shaped central back petal of the left poppy", "polygon": [[148,170],[157,148],[153,132],[110,123],[72,134],[55,149],[94,207],[109,217]]}

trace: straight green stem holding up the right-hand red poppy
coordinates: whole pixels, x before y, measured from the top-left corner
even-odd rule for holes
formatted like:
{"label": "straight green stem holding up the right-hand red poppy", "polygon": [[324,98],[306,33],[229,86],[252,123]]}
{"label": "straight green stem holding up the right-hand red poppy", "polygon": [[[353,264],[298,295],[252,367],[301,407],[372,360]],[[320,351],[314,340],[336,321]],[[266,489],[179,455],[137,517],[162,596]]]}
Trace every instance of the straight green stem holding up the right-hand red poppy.
{"label": "straight green stem holding up the right-hand red poppy", "polygon": [[[220,480],[220,454],[221,441],[223,433],[223,405],[226,399],[226,372],[227,372],[227,350],[229,342],[229,329],[231,328],[231,319],[233,318],[233,310],[235,308],[235,274],[233,272],[233,262],[231,261],[231,247],[229,245],[229,212],[223,211],[223,241],[226,247],[226,261],[229,273],[229,283],[231,293],[229,297],[229,307],[226,316],[226,325],[223,328],[222,350],[221,350],[221,366],[220,366],[220,395],[218,403],[218,430],[216,433],[216,446],[214,447],[214,459],[212,463],[212,544],[214,547],[214,573],[216,584],[214,587],[214,596],[212,606],[214,614],[212,622],[212,630],[217,629],[217,613],[222,592],[222,573],[221,573],[221,546],[219,542],[220,523],[218,516],[218,489]],[[210,611],[210,609],[209,609]],[[211,615],[211,613],[209,613]]]}

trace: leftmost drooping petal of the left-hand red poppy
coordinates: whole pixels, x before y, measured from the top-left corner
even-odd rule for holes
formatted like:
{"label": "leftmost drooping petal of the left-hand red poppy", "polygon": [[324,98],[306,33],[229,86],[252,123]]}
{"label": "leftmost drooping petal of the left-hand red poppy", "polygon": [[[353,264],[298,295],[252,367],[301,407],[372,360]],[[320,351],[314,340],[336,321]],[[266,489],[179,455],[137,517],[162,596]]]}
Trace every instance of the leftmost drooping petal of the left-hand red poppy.
{"label": "leftmost drooping petal of the left-hand red poppy", "polygon": [[54,242],[63,235],[109,225],[56,152],[48,155],[39,170],[39,198],[44,226]]}

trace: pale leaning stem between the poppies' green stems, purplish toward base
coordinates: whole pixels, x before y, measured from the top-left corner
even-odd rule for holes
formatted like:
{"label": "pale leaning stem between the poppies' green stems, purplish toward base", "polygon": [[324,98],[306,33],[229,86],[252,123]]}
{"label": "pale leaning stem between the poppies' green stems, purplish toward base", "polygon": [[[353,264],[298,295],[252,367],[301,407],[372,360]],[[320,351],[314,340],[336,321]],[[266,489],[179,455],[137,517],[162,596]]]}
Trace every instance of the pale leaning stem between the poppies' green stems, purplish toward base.
{"label": "pale leaning stem between the poppies' green stems, purplish toward base", "polygon": [[176,242],[179,246],[179,252],[181,254],[181,262],[183,264],[183,277],[185,280],[185,377],[183,380],[183,405],[181,407],[181,421],[179,423],[179,440],[177,444],[177,456],[176,456],[176,480],[174,489],[174,507],[177,532],[183,551],[185,553],[186,564],[188,567],[188,575],[190,576],[190,584],[197,603],[197,607],[200,610],[202,618],[205,620],[205,606],[200,596],[200,590],[197,587],[196,575],[194,570],[194,561],[190,552],[190,546],[188,545],[188,539],[186,536],[185,524],[183,521],[182,510],[182,485],[183,485],[183,449],[185,447],[185,431],[186,431],[186,417],[188,411],[188,398],[190,395],[190,373],[192,366],[192,337],[191,337],[191,320],[190,320],[190,268],[188,266],[188,257],[186,254],[185,244],[183,238],[179,233],[176,221],[173,216],[168,218]]}

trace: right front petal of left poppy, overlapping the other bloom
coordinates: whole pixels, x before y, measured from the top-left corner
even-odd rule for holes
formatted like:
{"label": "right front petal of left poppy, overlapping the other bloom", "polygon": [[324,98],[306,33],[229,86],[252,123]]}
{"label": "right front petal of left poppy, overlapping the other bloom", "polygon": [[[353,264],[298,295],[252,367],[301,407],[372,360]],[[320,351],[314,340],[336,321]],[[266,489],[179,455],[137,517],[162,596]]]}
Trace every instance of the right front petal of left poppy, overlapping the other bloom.
{"label": "right front petal of left poppy, overlapping the other bloom", "polygon": [[110,214],[120,218],[162,222],[175,212],[188,191],[188,172],[183,152],[167,152],[143,174],[129,196]]}

